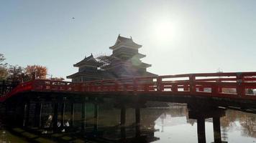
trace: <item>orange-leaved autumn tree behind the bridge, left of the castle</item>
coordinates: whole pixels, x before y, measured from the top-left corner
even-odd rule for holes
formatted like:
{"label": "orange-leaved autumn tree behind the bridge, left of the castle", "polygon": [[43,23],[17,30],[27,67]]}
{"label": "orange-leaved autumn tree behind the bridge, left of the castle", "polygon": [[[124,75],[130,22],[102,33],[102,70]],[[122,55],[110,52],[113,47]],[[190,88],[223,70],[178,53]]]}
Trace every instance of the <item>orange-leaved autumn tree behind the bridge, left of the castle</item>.
{"label": "orange-leaved autumn tree behind the bridge, left of the castle", "polygon": [[40,65],[28,65],[25,68],[25,74],[29,77],[29,79],[46,79],[47,68],[45,66]]}

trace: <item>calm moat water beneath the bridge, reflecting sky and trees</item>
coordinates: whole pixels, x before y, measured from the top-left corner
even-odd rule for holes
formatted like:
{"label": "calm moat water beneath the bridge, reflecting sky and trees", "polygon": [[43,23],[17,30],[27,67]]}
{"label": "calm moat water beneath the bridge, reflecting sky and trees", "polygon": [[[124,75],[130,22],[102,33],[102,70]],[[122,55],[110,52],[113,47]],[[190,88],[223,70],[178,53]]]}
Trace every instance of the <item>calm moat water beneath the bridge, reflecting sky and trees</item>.
{"label": "calm moat water beneath the bridge, reflecting sky and trees", "polygon": [[[164,104],[164,106],[162,106]],[[79,109],[77,105],[76,109]],[[47,108],[44,105],[43,108]],[[86,107],[86,131],[81,133],[81,114],[75,112],[75,130],[68,127],[55,133],[50,129],[24,129],[12,127],[0,116],[0,143],[9,142],[198,142],[197,121],[189,119],[184,104],[161,103],[140,109],[140,137],[136,137],[135,115],[132,108],[126,110],[125,132],[120,129],[120,109],[109,103],[99,104],[97,130],[93,129],[93,106]],[[49,114],[42,113],[42,126],[46,126]],[[66,125],[70,116],[65,115]],[[221,140],[231,143],[256,142],[256,114],[226,110],[221,117]],[[206,142],[214,142],[213,120],[205,120]],[[35,132],[37,130],[37,132]]]}

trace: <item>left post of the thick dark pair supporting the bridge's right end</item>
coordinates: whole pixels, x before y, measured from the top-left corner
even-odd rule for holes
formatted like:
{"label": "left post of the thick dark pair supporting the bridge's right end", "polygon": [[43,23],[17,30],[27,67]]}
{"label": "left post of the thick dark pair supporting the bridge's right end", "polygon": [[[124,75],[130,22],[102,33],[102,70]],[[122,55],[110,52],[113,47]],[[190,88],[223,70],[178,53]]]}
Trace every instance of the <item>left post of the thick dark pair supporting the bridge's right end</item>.
{"label": "left post of the thick dark pair supporting the bridge's right end", "polygon": [[197,137],[198,143],[206,143],[206,130],[204,118],[197,119]]}

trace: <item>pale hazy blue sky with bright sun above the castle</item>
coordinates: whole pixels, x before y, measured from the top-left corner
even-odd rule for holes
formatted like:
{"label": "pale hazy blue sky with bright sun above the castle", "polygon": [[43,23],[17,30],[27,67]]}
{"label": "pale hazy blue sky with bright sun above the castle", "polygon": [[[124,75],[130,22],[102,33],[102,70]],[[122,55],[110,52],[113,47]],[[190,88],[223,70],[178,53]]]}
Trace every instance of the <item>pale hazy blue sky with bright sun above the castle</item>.
{"label": "pale hazy blue sky with bright sun above the castle", "polygon": [[[0,1],[0,53],[9,64],[65,77],[118,34],[142,44],[156,74],[256,71],[256,1]],[[75,17],[75,19],[72,19]]]}

